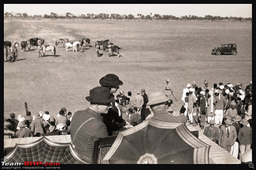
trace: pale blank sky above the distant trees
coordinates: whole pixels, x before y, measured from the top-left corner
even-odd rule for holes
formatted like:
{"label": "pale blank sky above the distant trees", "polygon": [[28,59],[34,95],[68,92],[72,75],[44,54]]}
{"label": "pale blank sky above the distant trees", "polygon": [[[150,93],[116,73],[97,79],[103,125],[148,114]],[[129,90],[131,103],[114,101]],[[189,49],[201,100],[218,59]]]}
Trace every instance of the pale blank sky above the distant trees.
{"label": "pale blank sky above the distant trees", "polygon": [[51,12],[65,15],[70,12],[76,16],[81,14],[154,14],[173,15],[205,15],[221,17],[252,17],[252,4],[4,4],[4,13],[27,13],[28,15],[50,15]]}

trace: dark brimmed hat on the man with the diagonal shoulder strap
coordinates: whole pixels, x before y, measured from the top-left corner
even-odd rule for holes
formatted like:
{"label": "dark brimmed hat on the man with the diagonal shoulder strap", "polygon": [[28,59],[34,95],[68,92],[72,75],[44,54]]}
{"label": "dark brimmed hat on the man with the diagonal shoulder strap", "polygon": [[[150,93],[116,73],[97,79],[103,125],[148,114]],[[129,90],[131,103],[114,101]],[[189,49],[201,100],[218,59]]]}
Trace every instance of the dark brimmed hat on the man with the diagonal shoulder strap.
{"label": "dark brimmed hat on the man with the diagonal shoulder strap", "polygon": [[90,103],[108,104],[113,101],[113,98],[110,96],[110,90],[106,87],[95,87],[89,93],[90,96],[85,97],[85,99]]}

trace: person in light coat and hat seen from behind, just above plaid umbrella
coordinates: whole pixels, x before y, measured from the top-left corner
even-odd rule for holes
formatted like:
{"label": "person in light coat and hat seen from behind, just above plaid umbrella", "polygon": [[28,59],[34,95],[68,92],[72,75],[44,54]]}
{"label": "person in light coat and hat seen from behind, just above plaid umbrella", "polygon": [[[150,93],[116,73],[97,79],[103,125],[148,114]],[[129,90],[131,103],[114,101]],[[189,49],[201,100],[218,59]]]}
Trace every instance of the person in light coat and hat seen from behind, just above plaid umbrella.
{"label": "person in light coat and hat seen from behind, just above plaid umbrella", "polygon": [[35,119],[32,120],[32,122],[30,123],[31,132],[33,136],[40,136],[41,134],[44,133],[44,129],[43,129],[43,123],[42,123],[39,112],[36,112],[34,114],[34,118]]}

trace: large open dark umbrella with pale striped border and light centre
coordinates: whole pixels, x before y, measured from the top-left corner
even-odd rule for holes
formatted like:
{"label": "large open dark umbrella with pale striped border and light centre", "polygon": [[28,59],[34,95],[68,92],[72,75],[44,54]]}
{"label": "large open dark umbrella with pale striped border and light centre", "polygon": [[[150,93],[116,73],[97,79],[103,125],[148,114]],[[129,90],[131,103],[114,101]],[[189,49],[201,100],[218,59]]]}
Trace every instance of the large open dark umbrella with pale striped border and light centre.
{"label": "large open dark umbrella with pale striped border and light centre", "polygon": [[120,132],[103,164],[208,164],[210,145],[183,123],[148,119]]}

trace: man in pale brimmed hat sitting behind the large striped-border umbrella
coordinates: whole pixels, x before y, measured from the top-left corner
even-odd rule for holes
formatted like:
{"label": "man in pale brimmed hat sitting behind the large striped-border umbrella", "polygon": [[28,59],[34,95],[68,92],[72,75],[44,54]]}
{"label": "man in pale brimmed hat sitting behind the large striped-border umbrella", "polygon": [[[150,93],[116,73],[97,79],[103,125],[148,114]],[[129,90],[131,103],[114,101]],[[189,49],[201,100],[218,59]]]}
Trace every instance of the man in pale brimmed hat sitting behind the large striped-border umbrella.
{"label": "man in pale brimmed hat sitting behind the large striped-border umbrella", "polygon": [[147,105],[150,106],[154,113],[151,119],[172,123],[183,123],[179,116],[173,116],[167,112],[165,106],[168,100],[170,100],[170,98],[166,97],[162,90],[152,92],[148,95]]}

